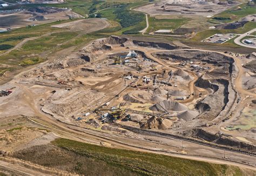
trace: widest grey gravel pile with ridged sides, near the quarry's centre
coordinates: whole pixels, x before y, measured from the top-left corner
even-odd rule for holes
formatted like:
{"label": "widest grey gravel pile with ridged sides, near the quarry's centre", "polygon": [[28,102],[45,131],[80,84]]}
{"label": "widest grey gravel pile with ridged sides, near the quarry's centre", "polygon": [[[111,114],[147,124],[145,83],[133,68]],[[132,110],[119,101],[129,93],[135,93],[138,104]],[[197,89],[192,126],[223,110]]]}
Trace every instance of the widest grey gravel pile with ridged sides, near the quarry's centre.
{"label": "widest grey gravel pile with ridged sides, near the quarry's centre", "polygon": [[185,111],[187,110],[187,106],[178,103],[176,101],[161,101],[157,104],[150,106],[151,111]]}

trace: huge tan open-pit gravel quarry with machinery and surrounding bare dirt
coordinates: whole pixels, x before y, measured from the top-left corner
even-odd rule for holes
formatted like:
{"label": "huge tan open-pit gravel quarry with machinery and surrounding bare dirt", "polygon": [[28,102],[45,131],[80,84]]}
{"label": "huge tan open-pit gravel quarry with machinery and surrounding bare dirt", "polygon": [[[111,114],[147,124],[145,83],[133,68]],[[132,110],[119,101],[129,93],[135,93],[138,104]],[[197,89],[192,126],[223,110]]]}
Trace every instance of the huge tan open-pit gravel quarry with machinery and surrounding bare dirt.
{"label": "huge tan open-pit gravel quarry with machinery and surrounding bare dirt", "polygon": [[[117,36],[93,40],[1,85],[2,90],[12,88],[9,96],[0,97],[1,123],[19,115],[24,124],[40,129],[56,126],[51,133],[19,129],[24,140],[8,152],[68,136],[97,145],[104,139],[104,146],[218,159],[226,150],[231,161],[254,166],[255,126],[246,128],[235,118],[242,112],[253,120],[255,113],[242,106],[254,107],[255,89],[240,91],[237,62],[227,53],[173,43]],[[60,129],[65,132],[57,134]],[[31,131],[36,132],[29,137]],[[11,144],[3,145],[7,150]]]}

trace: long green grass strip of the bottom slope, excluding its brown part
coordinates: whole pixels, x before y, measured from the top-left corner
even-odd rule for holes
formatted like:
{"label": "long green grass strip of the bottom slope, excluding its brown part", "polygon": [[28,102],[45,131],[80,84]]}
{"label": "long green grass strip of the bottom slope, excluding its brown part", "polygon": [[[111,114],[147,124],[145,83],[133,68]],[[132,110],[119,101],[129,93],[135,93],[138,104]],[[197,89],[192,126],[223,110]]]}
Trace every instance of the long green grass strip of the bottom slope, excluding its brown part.
{"label": "long green grass strip of the bottom slope, excluding its brown part", "polygon": [[[56,139],[53,145],[139,175],[242,175],[238,167]],[[99,165],[100,167],[100,165]]]}

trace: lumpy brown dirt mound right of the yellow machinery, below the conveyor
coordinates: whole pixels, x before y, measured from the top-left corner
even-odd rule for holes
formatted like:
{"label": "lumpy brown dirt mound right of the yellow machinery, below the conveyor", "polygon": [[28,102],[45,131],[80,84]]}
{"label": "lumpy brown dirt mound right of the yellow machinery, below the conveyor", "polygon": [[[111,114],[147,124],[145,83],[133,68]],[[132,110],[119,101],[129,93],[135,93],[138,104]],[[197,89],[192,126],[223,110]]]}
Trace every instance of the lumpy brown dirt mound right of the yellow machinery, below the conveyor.
{"label": "lumpy brown dirt mound right of the yellow machinery, below the conveyor", "polygon": [[152,116],[149,120],[147,120],[145,123],[140,124],[140,128],[144,129],[158,129],[158,130],[164,130],[168,129],[172,126],[172,121],[168,119],[163,118],[157,118],[155,116]]}

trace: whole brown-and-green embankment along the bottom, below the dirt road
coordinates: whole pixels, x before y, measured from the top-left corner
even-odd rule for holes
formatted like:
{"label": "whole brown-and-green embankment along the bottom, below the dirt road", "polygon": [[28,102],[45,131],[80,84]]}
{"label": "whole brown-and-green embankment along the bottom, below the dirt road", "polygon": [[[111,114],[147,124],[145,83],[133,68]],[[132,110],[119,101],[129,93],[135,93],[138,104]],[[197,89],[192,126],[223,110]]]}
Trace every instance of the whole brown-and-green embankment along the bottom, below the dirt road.
{"label": "whole brown-and-green embankment along the bottom, below the dirt road", "polygon": [[238,167],[55,139],[13,157],[85,175],[248,175]]}

